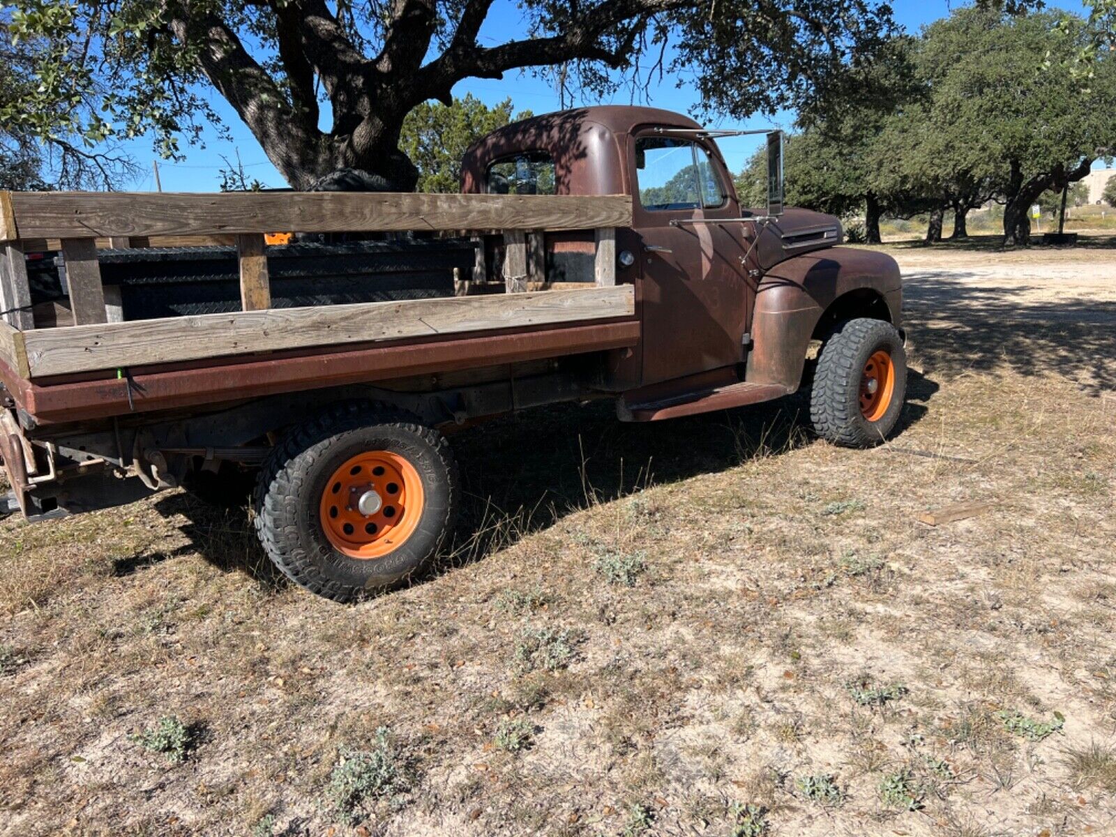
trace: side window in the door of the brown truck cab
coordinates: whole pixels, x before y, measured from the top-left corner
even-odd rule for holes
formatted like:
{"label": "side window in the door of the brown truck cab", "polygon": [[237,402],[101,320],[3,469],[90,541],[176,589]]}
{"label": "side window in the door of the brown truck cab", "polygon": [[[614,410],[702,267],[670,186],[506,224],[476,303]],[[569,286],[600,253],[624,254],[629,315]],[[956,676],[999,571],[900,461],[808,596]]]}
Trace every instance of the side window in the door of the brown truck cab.
{"label": "side window in the door of the brown truck cab", "polygon": [[686,140],[644,136],[635,142],[639,203],[648,210],[712,209],[725,193],[709,152]]}

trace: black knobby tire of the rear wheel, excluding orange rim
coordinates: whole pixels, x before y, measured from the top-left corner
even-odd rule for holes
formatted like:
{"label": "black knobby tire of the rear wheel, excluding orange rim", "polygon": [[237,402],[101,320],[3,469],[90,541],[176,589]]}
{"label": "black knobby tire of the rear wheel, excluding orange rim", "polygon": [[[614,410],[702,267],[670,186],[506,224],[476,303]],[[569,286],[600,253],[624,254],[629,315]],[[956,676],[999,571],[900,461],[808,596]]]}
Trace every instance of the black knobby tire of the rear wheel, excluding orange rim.
{"label": "black knobby tire of the rear wheel, excluding orange rim", "polygon": [[[423,508],[401,546],[362,560],[330,542],[319,509],[335,470],[373,450],[413,465]],[[458,492],[456,462],[442,434],[395,407],[346,403],[296,426],[275,448],[256,487],[256,531],[268,557],[292,581],[335,602],[357,602],[405,584],[429,565],[452,530]]]}

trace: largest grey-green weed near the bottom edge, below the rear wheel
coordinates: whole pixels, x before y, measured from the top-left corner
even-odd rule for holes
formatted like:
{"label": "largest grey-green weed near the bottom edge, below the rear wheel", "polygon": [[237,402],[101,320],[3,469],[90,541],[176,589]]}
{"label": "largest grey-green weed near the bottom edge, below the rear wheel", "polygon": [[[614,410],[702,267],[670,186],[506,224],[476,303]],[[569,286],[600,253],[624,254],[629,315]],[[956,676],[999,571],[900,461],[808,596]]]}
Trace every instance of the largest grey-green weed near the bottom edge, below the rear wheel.
{"label": "largest grey-green weed near the bottom edge, below the rear wheel", "polygon": [[371,750],[343,750],[329,775],[323,807],[345,825],[355,825],[368,801],[395,800],[411,785],[410,769],[386,727],[376,730]]}

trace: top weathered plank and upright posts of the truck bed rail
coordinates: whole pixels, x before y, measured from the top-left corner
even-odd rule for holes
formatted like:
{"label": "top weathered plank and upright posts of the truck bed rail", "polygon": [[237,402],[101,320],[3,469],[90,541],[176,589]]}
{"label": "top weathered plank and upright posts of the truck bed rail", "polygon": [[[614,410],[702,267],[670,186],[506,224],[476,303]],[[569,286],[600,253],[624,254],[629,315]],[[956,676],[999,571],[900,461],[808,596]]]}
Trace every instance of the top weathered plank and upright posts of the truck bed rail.
{"label": "top weathered plank and upright posts of the truck bed rail", "polygon": [[[546,230],[596,229],[596,286],[614,286],[615,228],[631,224],[627,195],[0,192],[0,321],[33,329],[23,250],[55,239],[62,252],[74,325],[85,326],[123,320],[119,299],[106,298],[100,280],[98,239],[109,247],[143,247],[160,235],[231,235],[240,262],[242,308],[256,311],[271,307],[268,231],[502,230],[506,290],[521,294],[546,282]],[[481,252],[474,282],[484,271],[482,259]]]}

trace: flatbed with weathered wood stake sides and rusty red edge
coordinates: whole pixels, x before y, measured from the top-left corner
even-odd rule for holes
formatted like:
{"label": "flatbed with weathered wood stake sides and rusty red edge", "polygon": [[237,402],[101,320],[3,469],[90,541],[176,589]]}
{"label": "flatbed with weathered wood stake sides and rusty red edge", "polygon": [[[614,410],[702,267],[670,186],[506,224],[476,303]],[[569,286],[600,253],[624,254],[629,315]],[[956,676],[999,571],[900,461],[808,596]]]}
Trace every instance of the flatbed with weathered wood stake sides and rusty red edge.
{"label": "flatbed with weathered wood stake sides and rusty red edge", "polygon": [[[615,279],[631,224],[627,195],[0,193],[0,381],[39,425],[632,346],[635,289]],[[271,308],[269,230],[496,231],[504,292],[479,250],[465,296]],[[595,282],[551,287],[541,235],[576,230],[593,231]],[[243,310],[109,321],[98,242],[161,240],[234,241]],[[37,328],[25,253],[51,247],[75,325]]]}

